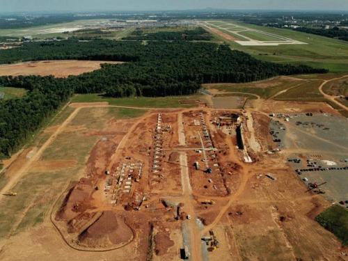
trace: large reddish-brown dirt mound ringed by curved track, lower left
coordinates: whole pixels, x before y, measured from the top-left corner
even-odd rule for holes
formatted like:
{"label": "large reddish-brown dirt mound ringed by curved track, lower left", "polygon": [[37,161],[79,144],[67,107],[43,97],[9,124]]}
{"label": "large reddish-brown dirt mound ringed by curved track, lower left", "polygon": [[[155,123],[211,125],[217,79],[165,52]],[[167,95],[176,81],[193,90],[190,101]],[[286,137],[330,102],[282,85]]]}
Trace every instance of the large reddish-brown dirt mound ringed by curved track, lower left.
{"label": "large reddish-brown dirt mound ringed by curved track, lower left", "polygon": [[79,244],[94,248],[126,244],[133,237],[131,228],[115,212],[105,211],[78,239]]}

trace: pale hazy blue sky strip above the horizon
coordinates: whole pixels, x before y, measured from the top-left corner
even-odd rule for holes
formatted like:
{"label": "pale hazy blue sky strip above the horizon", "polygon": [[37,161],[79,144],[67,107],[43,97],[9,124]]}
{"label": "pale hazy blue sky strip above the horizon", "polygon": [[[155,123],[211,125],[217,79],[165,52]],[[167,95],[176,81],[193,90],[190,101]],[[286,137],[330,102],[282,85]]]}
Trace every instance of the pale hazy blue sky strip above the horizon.
{"label": "pale hazy blue sky strip above the horizon", "polygon": [[0,0],[2,12],[93,10],[348,10],[348,0]]}

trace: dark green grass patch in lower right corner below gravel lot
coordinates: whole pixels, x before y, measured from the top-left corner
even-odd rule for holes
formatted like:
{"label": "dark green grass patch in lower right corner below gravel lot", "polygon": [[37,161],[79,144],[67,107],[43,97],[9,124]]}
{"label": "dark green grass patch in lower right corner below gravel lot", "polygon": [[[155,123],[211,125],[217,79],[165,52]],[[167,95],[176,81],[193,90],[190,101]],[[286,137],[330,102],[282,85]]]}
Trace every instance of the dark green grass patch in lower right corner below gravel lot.
{"label": "dark green grass patch in lower right corner below gravel lot", "polygon": [[333,205],[317,216],[316,220],[327,230],[333,232],[343,245],[348,245],[348,211]]}

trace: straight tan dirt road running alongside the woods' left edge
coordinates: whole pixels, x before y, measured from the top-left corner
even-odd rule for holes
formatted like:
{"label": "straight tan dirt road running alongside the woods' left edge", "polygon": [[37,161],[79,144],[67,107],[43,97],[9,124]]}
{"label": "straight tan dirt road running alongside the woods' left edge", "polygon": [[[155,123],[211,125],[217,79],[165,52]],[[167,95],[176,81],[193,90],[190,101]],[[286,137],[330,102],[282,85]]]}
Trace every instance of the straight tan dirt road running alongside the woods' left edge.
{"label": "straight tan dirt road running alongside the woods' left edge", "polygon": [[17,184],[22,175],[24,175],[29,170],[31,164],[40,159],[42,153],[49,147],[49,145],[51,145],[56,140],[56,137],[59,134],[61,134],[61,132],[63,132],[65,127],[72,121],[72,119],[75,116],[77,116],[77,113],[79,113],[79,111],[79,108],[75,109],[70,114],[70,116],[58,127],[58,129],[56,129],[56,132],[54,132],[54,134],[52,134],[52,136],[50,136],[49,139],[47,139],[47,141],[41,146],[41,148],[35,153],[35,155],[33,155],[33,157],[26,161],[26,163],[22,166],[22,168],[19,169],[19,171],[17,171],[17,173],[15,173],[15,175],[11,175],[9,177],[6,186],[3,187],[3,189],[1,189],[0,191],[0,201],[5,197],[3,196],[3,193],[6,193],[6,191],[10,191],[10,189],[12,189],[15,186],[15,184]]}

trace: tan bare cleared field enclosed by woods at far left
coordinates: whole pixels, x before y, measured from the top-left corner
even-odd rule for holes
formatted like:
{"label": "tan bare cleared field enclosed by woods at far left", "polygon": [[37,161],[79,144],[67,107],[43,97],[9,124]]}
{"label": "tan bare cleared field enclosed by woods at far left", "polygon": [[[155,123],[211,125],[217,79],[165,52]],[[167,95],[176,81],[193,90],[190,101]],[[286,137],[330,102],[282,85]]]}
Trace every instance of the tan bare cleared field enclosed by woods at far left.
{"label": "tan bare cleared field enclosed by woods at far left", "polygon": [[100,69],[102,63],[122,63],[106,61],[38,61],[30,63],[16,63],[0,65],[0,76],[3,75],[54,75],[55,77],[68,77],[84,72]]}

